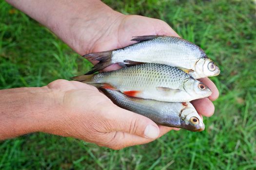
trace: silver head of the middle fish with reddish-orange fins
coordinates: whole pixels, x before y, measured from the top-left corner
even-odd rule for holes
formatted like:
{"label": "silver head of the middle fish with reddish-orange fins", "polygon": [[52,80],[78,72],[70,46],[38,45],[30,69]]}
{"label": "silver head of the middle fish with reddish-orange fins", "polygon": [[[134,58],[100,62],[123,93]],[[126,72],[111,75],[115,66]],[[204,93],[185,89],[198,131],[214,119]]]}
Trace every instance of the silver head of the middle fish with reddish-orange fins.
{"label": "silver head of the middle fish with reddish-orange fins", "polygon": [[188,79],[184,83],[183,88],[190,96],[193,96],[197,99],[205,98],[211,96],[212,94],[212,91],[209,87],[193,78]]}

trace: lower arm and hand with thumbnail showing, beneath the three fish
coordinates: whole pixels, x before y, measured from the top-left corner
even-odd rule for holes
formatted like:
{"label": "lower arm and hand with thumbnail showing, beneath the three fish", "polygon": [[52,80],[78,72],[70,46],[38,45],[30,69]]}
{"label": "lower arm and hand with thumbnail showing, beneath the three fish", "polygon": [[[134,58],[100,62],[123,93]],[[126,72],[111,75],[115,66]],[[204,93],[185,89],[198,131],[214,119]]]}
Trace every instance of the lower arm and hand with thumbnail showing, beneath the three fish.
{"label": "lower arm and hand with thumbnail showing, beneath the three fish", "polygon": [[0,140],[44,132],[121,149],[151,142],[167,131],[76,81],[0,90],[0,101]]}

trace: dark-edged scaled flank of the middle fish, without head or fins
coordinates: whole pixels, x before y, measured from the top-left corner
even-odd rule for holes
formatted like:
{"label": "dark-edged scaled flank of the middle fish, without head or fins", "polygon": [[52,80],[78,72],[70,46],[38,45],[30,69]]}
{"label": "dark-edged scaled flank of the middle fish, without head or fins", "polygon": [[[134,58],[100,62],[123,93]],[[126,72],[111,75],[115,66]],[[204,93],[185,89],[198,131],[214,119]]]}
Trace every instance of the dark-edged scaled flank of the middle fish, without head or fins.
{"label": "dark-edged scaled flank of the middle fish, without head or fins", "polygon": [[93,81],[119,86],[119,89],[133,90],[135,87],[145,88],[155,85],[178,88],[181,82],[191,76],[185,72],[166,65],[147,63],[134,67],[122,68],[119,71],[109,71],[97,74]]}

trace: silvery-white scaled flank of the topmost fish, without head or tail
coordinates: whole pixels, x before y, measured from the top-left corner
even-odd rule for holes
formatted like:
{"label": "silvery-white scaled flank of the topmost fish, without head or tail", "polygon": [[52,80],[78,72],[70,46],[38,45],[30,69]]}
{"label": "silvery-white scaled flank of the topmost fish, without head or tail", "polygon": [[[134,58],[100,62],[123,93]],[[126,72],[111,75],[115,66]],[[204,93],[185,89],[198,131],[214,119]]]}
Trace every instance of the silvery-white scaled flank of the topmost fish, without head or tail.
{"label": "silvery-white scaled flank of the topmost fish, without head or tail", "polygon": [[139,62],[149,62],[150,59],[151,63],[159,64],[171,62],[173,66],[177,66],[176,63],[186,61],[190,65],[188,67],[193,68],[194,63],[204,55],[205,53],[198,46],[189,41],[178,37],[159,36],[113,51],[112,63],[129,58]]}

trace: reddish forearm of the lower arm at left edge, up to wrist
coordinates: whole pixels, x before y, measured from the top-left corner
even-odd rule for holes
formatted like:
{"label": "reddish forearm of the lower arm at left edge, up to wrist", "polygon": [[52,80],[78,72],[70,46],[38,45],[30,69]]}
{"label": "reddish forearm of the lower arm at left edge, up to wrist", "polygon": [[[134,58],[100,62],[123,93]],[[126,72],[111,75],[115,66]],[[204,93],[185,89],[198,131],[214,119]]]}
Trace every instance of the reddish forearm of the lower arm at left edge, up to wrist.
{"label": "reddish forearm of the lower arm at left edge, up to wrist", "polygon": [[44,131],[55,102],[47,87],[0,90],[0,140]]}

